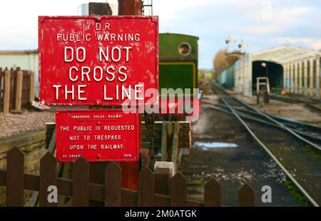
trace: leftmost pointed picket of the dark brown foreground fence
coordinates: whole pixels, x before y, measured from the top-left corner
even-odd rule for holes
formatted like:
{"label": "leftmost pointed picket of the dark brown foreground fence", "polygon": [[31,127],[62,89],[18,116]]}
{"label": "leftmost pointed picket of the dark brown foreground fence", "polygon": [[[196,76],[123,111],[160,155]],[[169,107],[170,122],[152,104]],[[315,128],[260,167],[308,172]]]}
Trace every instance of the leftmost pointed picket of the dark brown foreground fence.
{"label": "leftmost pointed picket of the dark brown foreground fence", "polygon": [[24,206],[24,153],[16,147],[7,156],[6,206]]}

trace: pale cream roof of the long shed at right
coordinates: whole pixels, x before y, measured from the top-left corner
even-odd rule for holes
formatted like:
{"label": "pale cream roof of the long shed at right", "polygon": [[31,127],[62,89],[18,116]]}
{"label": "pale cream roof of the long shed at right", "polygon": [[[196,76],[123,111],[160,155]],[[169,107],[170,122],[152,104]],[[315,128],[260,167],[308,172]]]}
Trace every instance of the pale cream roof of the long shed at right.
{"label": "pale cream roof of the long shed at right", "polygon": [[295,61],[303,61],[308,58],[321,56],[321,52],[312,51],[295,46],[280,46],[263,51],[250,53],[252,61],[272,61],[282,65]]}

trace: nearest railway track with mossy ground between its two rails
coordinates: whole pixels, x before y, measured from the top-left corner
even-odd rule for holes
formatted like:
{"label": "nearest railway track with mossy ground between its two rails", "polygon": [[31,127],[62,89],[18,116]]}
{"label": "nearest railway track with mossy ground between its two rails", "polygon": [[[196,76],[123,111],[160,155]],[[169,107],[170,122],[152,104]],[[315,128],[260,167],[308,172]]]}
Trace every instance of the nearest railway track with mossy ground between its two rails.
{"label": "nearest railway track with mossy ground between its two rails", "polygon": [[[275,162],[287,174],[292,183],[302,192],[312,205],[318,205],[321,202],[320,195],[320,165],[321,161],[315,155],[320,154],[320,148],[310,140],[302,139],[293,133],[292,130],[282,126],[272,118],[261,113],[264,120],[277,123],[282,128],[271,127],[270,125],[249,121],[240,117],[235,107],[248,108],[260,113],[257,109],[247,106],[244,102],[239,101],[229,93],[223,91],[223,88],[215,86],[215,91],[220,99],[228,106],[231,112],[243,123],[245,128],[253,135],[253,138],[260,143],[269,155],[274,158]],[[313,155],[311,151],[306,151],[305,145],[311,145],[315,148]]]}

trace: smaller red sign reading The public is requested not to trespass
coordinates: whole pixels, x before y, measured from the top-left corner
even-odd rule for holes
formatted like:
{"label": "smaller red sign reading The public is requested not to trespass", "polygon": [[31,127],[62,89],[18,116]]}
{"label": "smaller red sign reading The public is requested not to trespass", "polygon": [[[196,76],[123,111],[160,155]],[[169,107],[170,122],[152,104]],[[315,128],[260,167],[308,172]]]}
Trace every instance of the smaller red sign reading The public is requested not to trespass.
{"label": "smaller red sign reading The public is requested not to trespass", "polygon": [[138,160],[139,134],[138,113],[120,109],[56,111],[56,159]]}

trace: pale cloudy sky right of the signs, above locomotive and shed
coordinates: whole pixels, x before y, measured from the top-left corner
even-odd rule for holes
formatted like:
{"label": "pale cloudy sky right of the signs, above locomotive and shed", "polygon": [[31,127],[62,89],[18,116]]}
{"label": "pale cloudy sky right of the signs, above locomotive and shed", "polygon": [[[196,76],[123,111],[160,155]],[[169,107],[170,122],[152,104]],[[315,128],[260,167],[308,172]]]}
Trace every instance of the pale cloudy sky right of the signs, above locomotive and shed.
{"label": "pale cloudy sky right of the signs, above locomotive and shed", "polygon": [[[198,5],[198,1],[195,1],[195,6],[188,5],[188,9],[185,6],[168,9],[167,12],[173,14],[175,19],[170,18],[163,23],[163,12],[159,14],[162,31],[183,32],[200,37],[201,68],[212,66],[215,52],[225,47],[224,40],[228,35],[239,41],[243,38],[245,43],[250,43],[252,48],[246,51],[258,51],[285,43],[320,48],[318,36],[321,36],[321,29],[318,21],[321,10],[316,7],[319,4],[317,1],[304,4],[295,0],[219,0],[205,3],[208,5]],[[181,1],[178,1],[175,7],[179,8],[180,4]]]}

